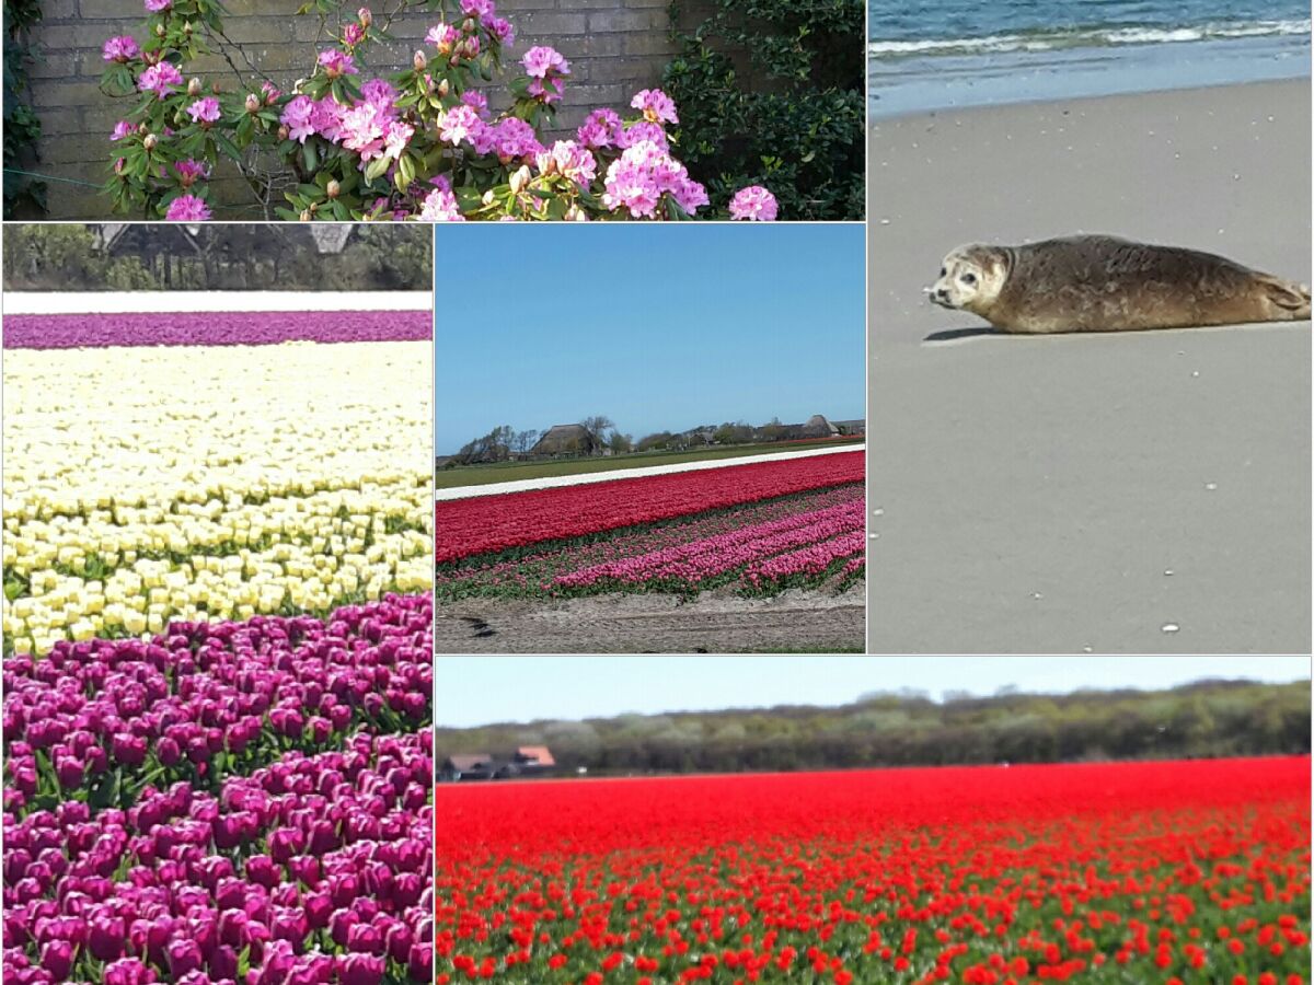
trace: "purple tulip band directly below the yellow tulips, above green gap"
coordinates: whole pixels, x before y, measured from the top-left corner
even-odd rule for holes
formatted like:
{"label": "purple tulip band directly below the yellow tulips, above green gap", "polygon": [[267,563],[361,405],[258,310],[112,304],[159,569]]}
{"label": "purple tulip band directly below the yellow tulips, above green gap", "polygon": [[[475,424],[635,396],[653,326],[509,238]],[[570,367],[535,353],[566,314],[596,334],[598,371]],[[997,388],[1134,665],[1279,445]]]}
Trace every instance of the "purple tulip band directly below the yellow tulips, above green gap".
{"label": "purple tulip band directly below the yellow tulips, above green gap", "polygon": [[359,728],[428,724],[432,599],[327,619],[173,623],[151,640],[60,642],[4,662],[5,809],[83,796],[126,806],[147,781],[214,788]]}

